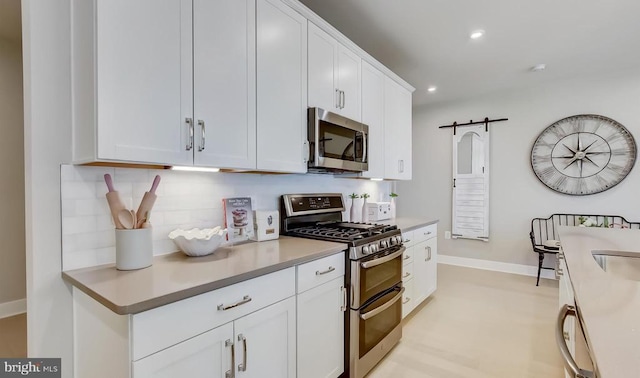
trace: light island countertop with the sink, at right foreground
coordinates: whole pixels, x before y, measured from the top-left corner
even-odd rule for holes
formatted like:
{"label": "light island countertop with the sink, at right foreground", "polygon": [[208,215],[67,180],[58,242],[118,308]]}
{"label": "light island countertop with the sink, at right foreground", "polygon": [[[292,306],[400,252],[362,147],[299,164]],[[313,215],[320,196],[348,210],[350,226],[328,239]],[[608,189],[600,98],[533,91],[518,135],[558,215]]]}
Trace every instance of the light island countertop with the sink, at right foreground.
{"label": "light island countertop with the sink, at right foreground", "polygon": [[559,233],[598,377],[640,377],[640,282],[603,271],[592,256],[596,250],[640,257],[640,230],[561,227]]}

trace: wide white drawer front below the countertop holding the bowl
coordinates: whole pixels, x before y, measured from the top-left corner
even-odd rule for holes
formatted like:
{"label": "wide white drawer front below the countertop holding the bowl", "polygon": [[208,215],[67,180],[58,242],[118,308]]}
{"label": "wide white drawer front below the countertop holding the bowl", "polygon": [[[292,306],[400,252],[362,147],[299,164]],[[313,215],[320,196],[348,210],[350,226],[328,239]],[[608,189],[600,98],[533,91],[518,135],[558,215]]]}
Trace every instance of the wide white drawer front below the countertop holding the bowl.
{"label": "wide white drawer front below the countertop holding the bowl", "polygon": [[[132,315],[133,360],[293,296],[294,269],[288,268]],[[229,307],[234,304],[238,305]]]}

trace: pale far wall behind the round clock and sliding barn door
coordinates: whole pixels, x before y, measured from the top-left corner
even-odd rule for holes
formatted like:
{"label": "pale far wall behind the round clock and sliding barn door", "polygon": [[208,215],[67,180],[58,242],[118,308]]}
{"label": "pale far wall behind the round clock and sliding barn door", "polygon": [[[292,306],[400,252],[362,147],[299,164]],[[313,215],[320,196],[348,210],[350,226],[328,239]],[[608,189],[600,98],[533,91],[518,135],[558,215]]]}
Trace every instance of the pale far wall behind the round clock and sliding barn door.
{"label": "pale far wall behind the round clock and sliding barn door", "polygon": [[[575,197],[544,186],[531,169],[533,142],[551,123],[593,113],[622,123],[640,142],[640,73],[540,85],[482,98],[414,109],[413,181],[399,182],[399,216],[440,219],[439,253],[536,265],[528,239],[531,219],[553,213],[604,213],[640,220],[640,167],[618,186]],[[445,240],[451,229],[452,131],[440,125],[509,118],[491,133],[490,241]]]}

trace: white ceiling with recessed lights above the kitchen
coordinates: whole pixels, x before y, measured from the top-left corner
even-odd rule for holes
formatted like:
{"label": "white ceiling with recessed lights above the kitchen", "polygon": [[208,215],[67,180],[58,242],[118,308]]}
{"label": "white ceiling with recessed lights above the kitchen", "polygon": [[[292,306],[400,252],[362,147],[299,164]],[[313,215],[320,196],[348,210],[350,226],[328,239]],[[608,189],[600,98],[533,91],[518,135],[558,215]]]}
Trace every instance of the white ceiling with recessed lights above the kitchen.
{"label": "white ceiling with recessed lights above the kitchen", "polygon": [[414,106],[640,68],[638,0],[300,1],[416,87]]}

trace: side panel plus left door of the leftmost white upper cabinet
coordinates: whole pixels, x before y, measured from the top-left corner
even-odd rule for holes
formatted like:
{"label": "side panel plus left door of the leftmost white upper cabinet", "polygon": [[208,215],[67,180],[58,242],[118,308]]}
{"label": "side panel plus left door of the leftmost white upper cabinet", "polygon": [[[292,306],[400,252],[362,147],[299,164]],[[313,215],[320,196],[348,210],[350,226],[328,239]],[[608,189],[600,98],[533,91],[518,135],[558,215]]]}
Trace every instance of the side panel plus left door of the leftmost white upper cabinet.
{"label": "side panel plus left door of the leftmost white upper cabinet", "polygon": [[73,7],[74,160],[191,164],[191,1]]}

